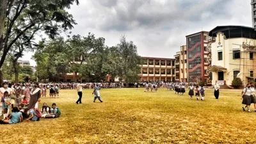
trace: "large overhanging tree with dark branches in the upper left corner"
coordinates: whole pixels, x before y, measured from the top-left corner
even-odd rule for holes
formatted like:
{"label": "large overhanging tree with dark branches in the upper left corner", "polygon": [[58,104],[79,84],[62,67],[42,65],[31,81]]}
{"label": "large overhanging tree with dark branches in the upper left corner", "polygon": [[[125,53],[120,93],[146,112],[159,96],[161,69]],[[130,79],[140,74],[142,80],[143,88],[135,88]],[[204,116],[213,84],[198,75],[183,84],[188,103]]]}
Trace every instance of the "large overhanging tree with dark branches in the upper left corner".
{"label": "large overhanging tree with dark branches in the upper left corner", "polygon": [[[1,0],[0,1],[0,68],[12,46],[24,38],[31,44],[31,31],[44,31],[54,38],[61,30],[72,29],[76,24],[66,9],[78,0]],[[28,36],[28,34],[31,34]],[[32,36],[33,37],[33,36]],[[0,79],[3,74],[0,70]]]}

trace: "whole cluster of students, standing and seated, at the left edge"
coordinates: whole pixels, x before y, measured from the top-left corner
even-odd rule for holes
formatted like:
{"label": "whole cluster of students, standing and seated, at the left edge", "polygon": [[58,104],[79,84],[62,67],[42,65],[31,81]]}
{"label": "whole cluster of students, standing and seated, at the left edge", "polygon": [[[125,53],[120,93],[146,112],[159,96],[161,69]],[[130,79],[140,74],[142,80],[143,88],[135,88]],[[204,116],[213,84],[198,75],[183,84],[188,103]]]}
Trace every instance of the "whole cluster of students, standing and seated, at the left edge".
{"label": "whole cluster of students, standing and seated, at the left edge", "polygon": [[[33,87],[30,88],[30,86]],[[15,86],[15,84],[5,82],[0,88],[0,116],[3,113],[3,120],[0,120],[0,124],[17,124],[24,120],[38,121],[41,117],[58,118],[61,111],[56,108],[55,103],[51,108],[44,103],[42,109],[38,109],[38,104],[41,101],[41,89],[38,83],[26,84],[22,88],[20,84]]]}

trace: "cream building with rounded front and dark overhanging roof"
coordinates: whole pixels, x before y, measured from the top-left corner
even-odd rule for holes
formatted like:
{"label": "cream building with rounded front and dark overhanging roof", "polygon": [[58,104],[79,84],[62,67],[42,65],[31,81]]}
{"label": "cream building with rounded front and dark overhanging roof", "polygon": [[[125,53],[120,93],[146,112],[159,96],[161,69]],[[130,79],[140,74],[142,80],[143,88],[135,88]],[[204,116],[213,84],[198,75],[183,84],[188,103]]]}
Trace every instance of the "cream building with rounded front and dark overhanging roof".
{"label": "cream building with rounded front and dark overhanging roof", "polygon": [[209,36],[212,36],[212,84],[232,85],[236,77],[240,77],[243,84],[255,79],[255,28],[217,26]]}

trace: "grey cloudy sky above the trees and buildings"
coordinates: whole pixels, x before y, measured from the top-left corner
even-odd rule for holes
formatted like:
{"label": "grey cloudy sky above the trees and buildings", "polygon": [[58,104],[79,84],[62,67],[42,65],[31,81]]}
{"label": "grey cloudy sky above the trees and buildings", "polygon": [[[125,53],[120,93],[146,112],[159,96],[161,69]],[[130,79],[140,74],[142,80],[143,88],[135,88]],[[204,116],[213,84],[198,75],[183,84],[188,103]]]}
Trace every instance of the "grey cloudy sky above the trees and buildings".
{"label": "grey cloudy sky above the trees and buildings", "polygon": [[186,45],[186,35],[216,26],[252,26],[250,0],[80,0],[68,11],[77,22],[72,34],[91,32],[106,38],[108,46],[125,35],[140,56],[159,58],[173,58]]}

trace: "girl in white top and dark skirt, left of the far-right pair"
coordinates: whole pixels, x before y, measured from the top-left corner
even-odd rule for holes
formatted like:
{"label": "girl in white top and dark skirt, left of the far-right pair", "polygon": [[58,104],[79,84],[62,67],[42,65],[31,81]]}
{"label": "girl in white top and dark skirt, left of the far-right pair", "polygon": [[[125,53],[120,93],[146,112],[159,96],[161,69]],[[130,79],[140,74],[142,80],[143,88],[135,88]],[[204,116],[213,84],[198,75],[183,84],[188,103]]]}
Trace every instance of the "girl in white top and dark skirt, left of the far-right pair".
{"label": "girl in white top and dark skirt, left of the far-right pair", "polygon": [[242,93],[242,99],[243,99],[243,102],[242,104],[245,104],[243,108],[243,111],[245,111],[245,108],[247,108],[247,111],[250,113],[251,110],[250,110],[250,105],[251,105],[251,102],[252,102],[252,99],[251,99],[251,88],[250,88],[250,84],[247,84],[246,85],[246,88],[244,88],[243,90],[243,93]]}

